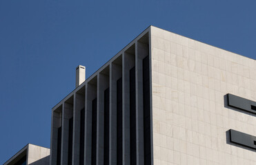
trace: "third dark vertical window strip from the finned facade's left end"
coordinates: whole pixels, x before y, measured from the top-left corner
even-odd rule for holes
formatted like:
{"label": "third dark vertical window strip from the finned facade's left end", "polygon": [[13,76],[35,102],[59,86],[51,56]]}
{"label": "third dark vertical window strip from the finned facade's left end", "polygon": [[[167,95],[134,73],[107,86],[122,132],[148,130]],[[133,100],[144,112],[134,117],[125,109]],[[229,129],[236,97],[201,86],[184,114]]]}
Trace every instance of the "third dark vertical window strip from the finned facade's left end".
{"label": "third dark vertical window strip from the finned facade's left end", "polygon": [[85,110],[81,109],[80,113],[80,149],[79,149],[79,164],[83,165],[84,160],[84,126],[85,126]]}

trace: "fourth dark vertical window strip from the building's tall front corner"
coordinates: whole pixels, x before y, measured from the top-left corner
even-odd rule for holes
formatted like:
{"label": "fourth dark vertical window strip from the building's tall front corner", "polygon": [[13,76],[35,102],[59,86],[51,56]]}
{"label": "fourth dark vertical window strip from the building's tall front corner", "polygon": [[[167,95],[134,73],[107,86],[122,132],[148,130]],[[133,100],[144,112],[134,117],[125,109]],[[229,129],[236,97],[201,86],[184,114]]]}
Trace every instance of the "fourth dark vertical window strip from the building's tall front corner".
{"label": "fourth dark vertical window strip from the building's tall front corner", "polygon": [[109,88],[104,91],[104,165],[109,164]]}

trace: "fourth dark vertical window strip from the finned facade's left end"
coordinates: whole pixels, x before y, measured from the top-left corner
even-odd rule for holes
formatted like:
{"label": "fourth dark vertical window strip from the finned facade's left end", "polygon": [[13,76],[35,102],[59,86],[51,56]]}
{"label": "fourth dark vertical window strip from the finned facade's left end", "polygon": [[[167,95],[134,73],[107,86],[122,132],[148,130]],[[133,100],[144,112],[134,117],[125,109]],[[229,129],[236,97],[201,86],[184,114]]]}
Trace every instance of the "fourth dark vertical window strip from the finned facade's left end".
{"label": "fourth dark vertical window strip from the finned facade's left end", "polygon": [[92,100],[92,165],[96,164],[97,98]]}

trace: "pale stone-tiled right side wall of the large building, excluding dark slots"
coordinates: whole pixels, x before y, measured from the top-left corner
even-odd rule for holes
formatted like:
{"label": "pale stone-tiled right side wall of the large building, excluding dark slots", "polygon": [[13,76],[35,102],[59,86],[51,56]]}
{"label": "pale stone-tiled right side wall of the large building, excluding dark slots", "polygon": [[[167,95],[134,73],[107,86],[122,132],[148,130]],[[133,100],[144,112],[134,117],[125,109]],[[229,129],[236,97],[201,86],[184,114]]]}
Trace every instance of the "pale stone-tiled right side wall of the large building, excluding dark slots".
{"label": "pale stone-tiled right side wall of the large building, excluding dark slots", "polygon": [[256,119],[226,106],[226,94],[256,100],[255,60],[151,27],[154,164],[256,164],[228,142],[256,135]]}

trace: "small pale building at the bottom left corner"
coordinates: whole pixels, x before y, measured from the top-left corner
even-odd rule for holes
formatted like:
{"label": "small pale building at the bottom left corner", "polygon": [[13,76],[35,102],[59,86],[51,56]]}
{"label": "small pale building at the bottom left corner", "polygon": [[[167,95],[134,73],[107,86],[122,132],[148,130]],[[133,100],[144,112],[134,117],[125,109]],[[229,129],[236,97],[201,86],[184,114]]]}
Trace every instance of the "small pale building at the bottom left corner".
{"label": "small pale building at the bottom left corner", "polygon": [[50,149],[34,144],[27,144],[3,165],[48,165]]}

